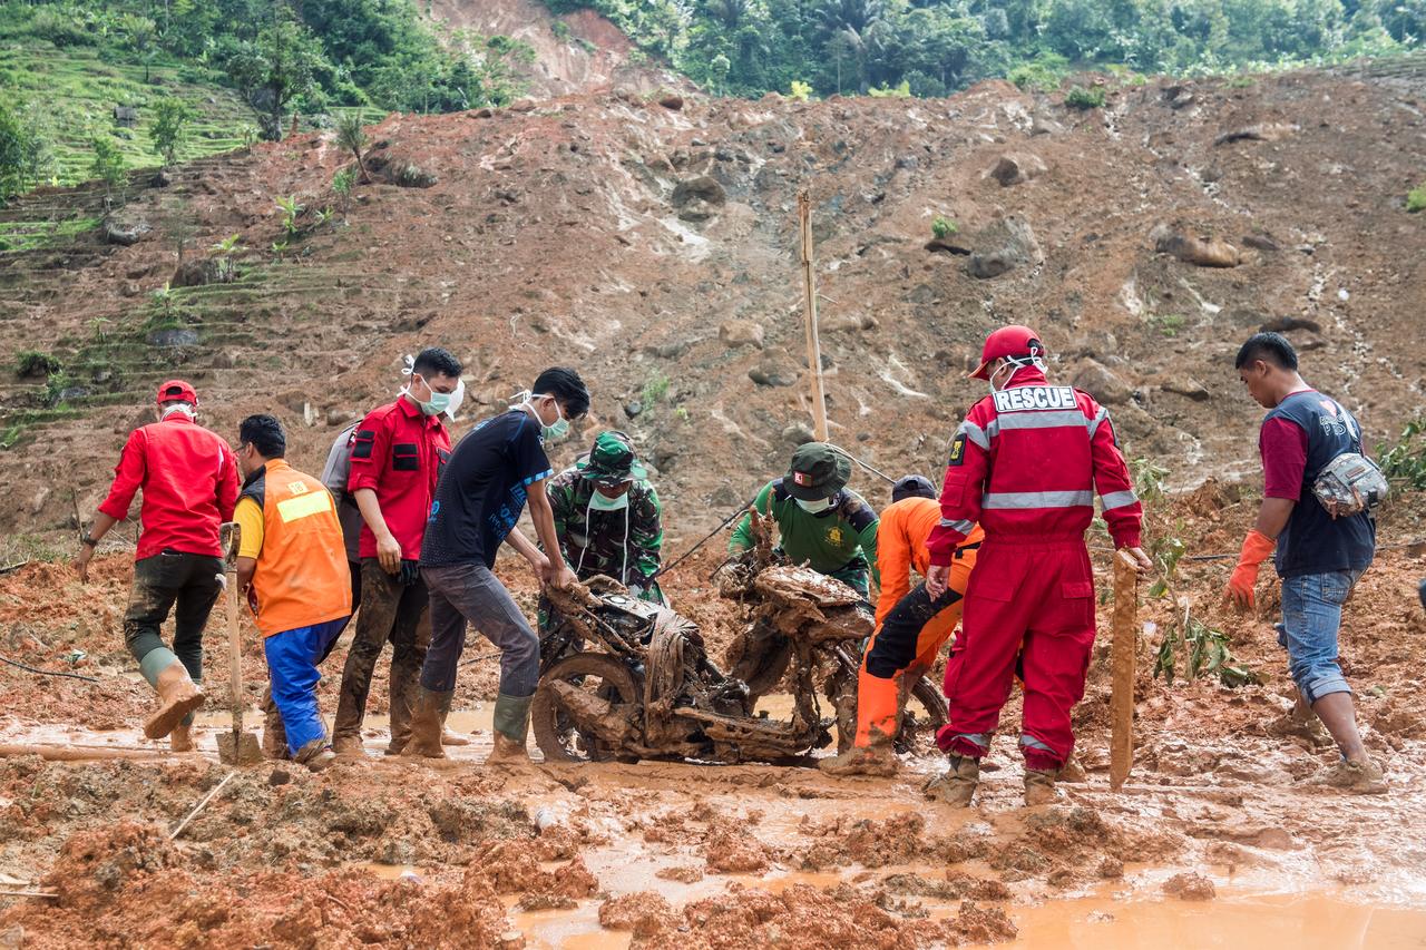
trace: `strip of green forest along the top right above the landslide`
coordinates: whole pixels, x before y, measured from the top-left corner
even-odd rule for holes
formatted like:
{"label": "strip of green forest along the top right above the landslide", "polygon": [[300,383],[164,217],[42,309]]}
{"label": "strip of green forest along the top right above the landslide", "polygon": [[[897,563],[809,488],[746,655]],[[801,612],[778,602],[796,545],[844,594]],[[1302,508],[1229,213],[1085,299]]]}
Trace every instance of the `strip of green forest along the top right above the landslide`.
{"label": "strip of green forest along the top right above the landslide", "polygon": [[1419,0],[545,0],[592,7],[694,81],[757,97],[934,97],[987,77],[1058,88],[1075,68],[1204,74],[1415,47]]}

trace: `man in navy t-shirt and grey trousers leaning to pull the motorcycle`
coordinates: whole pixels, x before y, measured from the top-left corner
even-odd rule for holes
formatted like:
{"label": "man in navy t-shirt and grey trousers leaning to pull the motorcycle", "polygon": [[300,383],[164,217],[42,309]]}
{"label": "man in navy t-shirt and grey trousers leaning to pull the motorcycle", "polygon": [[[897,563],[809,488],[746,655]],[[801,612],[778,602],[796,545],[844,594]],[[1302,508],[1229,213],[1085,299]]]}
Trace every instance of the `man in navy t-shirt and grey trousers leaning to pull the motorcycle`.
{"label": "man in navy t-shirt and grey trousers leaning to pull the motorcycle", "polygon": [[[491,568],[501,543],[520,553],[543,585],[568,588],[575,572],[559,556],[555,515],[545,495],[553,475],[543,442],[569,432],[589,412],[589,391],[573,369],[555,367],[508,412],[472,429],[451,454],[436,485],[421,543],[421,576],[431,592],[431,649],[411,719],[406,755],[443,759],[441,727],[455,695],[455,670],[469,622],[501,648],[495,700],[495,752],[488,762],[526,757],[530,699],[539,680],[539,638]],[[529,502],[546,558],[520,532]]]}

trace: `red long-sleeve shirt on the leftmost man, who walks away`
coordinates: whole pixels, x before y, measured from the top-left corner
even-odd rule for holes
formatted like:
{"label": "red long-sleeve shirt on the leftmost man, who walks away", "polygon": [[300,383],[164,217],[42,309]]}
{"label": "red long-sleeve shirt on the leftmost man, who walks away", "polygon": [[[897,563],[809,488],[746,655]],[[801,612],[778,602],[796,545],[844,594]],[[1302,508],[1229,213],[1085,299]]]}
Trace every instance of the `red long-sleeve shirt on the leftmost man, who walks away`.
{"label": "red long-sleeve shirt on the leftmost man, who walks away", "polygon": [[221,436],[183,412],[134,429],[98,509],[123,521],[140,488],[138,561],[161,551],[222,556],[218,526],[232,521],[238,462]]}

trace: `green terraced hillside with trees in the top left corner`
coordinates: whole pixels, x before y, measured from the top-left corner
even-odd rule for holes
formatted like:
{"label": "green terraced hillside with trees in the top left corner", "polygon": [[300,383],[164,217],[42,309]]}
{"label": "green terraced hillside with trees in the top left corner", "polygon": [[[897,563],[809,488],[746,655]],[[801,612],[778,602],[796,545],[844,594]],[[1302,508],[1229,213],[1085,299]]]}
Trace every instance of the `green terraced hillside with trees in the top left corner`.
{"label": "green terraced hillside with trees in the top left corner", "polygon": [[97,136],[144,168],[275,138],[292,113],[503,106],[532,58],[436,36],[412,0],[0,0],[0,201],[86,180]]}

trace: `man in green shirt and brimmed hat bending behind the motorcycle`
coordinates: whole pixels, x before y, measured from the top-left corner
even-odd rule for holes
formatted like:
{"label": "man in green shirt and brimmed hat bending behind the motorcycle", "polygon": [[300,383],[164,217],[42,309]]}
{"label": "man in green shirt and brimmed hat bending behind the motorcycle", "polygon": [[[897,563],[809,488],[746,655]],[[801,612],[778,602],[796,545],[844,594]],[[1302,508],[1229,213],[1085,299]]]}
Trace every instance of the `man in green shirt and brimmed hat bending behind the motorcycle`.
{"label": "man in green shirt and brimmed hat bending behind the motorcycle", "polygon": [[[753,508],[777,522],[779,545],[791,563],[836,578],[870,596],[867,575],[877,578],[877,514],[847,488],[851,459],[826,442],[807,442],[793,452],[787,475],[770,481]],[[727,549],[753,546],[752,515],[733,529]]]}

